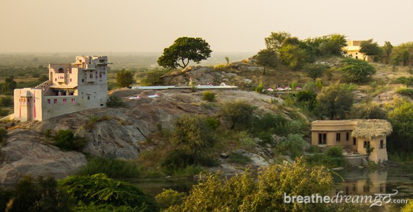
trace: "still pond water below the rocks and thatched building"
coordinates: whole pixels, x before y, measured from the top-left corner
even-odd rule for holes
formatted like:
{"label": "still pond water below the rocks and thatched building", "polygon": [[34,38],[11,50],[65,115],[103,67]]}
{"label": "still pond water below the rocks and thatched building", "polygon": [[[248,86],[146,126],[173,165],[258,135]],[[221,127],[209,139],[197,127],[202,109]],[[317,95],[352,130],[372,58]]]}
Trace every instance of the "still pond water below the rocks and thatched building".
{"label": "still pond water below the rocks and thatched building", "polygon": [[[377,193],[396,193],[392,200],[413,198],[413,167],[389,167],[379,170],[349,168],[336,172],[335,186],[331,196],[341,191],[341,195],[372,195]],[[138,185],[149,195],[157,195],[162,189],[188,192],[197,182],[190,178],[128,180]],[[396,191],[395,191],[396,190]],[[374,211],[399,211],[404,203],[383,204],[372,208]]]}

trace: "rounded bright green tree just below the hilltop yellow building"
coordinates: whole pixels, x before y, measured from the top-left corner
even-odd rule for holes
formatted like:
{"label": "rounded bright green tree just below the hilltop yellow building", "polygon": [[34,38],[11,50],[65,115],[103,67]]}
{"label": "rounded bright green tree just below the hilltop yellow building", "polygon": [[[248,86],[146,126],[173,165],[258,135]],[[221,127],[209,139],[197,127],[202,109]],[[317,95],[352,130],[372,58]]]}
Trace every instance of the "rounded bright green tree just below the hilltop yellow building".
{"label": "rounded bright green tree just below the hilltop yellow building", "polygon": [[357,59],[345,59],[341,72],[343,72],[349,81],[359,83],[366,81],[370,76],[376,74],[376,70],[372,65],[366,61]]}

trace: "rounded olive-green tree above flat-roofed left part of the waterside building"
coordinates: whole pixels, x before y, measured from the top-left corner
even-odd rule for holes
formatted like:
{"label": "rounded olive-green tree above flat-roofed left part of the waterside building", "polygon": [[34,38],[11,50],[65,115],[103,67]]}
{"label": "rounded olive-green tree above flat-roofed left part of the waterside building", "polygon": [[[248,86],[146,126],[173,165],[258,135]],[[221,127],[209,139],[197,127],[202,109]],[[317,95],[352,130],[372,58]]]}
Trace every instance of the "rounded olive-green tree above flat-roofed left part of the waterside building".
{"label": "rounded olive-green tree above flat-roofed left part of the waterside building", "polygon": [[317,96],[316,111],[321,118],[344,119],[350,113],[353,102],[352,87],[337,82],[321,89]]}

